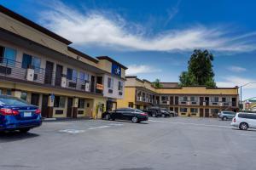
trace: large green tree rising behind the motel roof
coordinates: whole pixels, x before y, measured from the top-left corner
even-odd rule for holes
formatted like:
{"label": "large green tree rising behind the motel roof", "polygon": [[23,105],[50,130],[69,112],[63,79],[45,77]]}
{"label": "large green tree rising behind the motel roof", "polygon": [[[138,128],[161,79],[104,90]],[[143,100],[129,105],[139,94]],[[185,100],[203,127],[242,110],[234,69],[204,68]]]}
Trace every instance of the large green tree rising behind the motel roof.
{"label": "large green tree rising behind the motel roof", "polygon": [[207,50],[195,49],[188,62],[188,71],[179,76],[180,86],[216,87],[212,70],[213,55]]}

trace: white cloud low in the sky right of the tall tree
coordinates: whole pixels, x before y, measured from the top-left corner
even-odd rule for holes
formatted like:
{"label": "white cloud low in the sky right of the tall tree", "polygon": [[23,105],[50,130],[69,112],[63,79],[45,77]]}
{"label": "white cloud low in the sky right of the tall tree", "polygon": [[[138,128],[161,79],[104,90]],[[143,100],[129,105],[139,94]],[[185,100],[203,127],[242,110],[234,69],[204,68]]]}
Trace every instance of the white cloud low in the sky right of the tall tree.
{"label": "white cloud low in the sky right of the tall tree", "polygon": [[[244,84],[247,84],[248,82],[256,82],[256,80],[251,78],[236,77],[236,76],[223,77],[223,80],[224,81],[216,82],[219,88],[230,88],[230,87],[236,87],[236,86],[240,87]],[[256,88],[256,83],[248,84],[243,88]]]}

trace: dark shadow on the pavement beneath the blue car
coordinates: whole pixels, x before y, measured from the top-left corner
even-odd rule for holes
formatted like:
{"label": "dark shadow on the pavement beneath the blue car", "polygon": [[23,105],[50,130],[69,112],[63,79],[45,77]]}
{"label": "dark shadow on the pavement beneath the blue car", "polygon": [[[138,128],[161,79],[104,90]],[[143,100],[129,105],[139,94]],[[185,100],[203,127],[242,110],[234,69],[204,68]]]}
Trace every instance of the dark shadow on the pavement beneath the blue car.
{"label": "dark shadow on the pavement beneath the blue car", "polygon": [[20,133],[18,131],[9,133],[0,133],[0,143],[13,142],[16,140],[36,138],[39,135],[36,133]]}

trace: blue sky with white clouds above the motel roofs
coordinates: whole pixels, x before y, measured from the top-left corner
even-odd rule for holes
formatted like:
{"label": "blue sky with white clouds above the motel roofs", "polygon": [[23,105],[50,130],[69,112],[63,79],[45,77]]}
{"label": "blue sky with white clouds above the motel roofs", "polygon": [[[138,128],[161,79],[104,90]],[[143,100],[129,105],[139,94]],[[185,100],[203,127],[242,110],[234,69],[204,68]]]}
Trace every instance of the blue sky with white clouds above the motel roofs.
{"label": "blue sky with white clouds above the motel roofs", "polygon": [[[130,75],[177,82],[194,48],[214,55],[218,87],[256,82],[256,1],[1,0],[91,56],[108,55]],[[256,84],[243,99],[256,97]]]}

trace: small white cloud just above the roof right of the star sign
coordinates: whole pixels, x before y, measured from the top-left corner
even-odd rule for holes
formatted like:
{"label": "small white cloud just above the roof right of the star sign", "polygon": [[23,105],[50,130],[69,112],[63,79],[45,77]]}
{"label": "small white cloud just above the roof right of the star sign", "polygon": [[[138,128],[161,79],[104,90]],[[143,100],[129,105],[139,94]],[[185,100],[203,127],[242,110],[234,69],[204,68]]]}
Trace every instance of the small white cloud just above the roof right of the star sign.
{"label": "small white cloud just above the roof right of the star sign", "polygon": [[137,75],[142,73],[160,72],[160,69],[155,69],[150,65],[128,65],[126,75]]}

